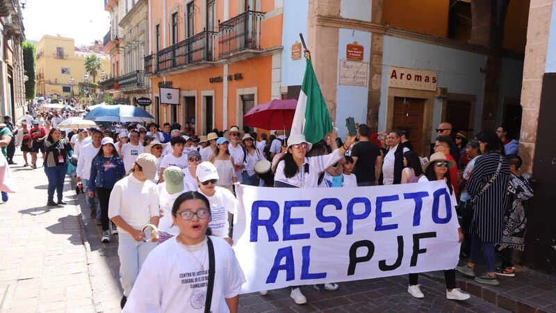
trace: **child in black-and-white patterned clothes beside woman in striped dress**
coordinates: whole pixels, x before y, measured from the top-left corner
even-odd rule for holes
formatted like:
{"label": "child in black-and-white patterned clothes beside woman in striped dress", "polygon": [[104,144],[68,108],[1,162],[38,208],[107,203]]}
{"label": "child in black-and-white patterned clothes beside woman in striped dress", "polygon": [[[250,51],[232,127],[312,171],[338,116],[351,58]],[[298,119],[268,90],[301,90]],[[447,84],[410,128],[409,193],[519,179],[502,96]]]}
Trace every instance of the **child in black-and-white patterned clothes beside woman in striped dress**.
{"label": "child in black-and-white patterned clothes beside woman in striped dress", "polygon": [[534,195],[529,182],[519,173],[521,157],[517,154],[506,156],[511,172],[508,184],[508,209],[504,216],[504,230],[502,231],[502,243],[498,246],[502,264],[496,269],[496,275],[514,277],[516,275],[514,264],[512,264],[513,249],[523,251],[525,247],[525,229],[527,218],[525,207],[528,200]]}

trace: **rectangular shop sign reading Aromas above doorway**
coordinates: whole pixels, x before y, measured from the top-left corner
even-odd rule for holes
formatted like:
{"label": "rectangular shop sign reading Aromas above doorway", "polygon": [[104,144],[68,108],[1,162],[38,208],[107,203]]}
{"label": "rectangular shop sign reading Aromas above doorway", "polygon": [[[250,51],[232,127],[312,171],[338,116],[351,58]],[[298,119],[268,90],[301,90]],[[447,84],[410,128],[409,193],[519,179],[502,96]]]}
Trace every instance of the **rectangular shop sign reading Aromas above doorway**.
{"label": "rectangular shop sign reading Aromas above doorway", "polygon": [[436,91],[436,72],[390,67],[389,87]]}

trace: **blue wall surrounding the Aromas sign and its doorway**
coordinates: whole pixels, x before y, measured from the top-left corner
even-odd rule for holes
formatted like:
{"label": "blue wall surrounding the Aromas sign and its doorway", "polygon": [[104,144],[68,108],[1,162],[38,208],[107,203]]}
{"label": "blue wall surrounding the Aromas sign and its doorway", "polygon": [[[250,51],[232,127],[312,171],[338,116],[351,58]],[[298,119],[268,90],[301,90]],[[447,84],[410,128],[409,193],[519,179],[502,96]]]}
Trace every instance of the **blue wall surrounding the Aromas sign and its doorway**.
{"label": "blue wall surrounding the Aromas sign and its doorway", "polygon": [[[448,93],[475,95],[477,102],[474,128],[479,129],[484,81],[484,74],[480,72],[480,68],[484,67],[485,62],[486,56],[482,54],[384,36],[378,129],[383,130],[386,127],[390,66],[436,71],[437,87],[448,88]],[[437,98],[434,101],[433,128],[441,122],[440,111],[441,99]],[[436,134],[433,131],[431,142],[434,137]]]}

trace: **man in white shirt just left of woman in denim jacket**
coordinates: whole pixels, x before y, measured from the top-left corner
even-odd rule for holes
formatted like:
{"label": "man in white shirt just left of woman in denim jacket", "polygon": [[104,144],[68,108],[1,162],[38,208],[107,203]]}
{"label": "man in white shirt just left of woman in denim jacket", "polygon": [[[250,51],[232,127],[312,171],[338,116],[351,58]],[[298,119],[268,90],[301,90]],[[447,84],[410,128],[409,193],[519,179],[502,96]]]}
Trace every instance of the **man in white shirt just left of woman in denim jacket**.
{"label": "man in white shirt just left of woman in denim jacket", "polygon": [[[79,150],[79,155],[77,156],[77,169],[76,169],[76,181],[81,182],[83,180],[84,186],[89,186],[89,177],[91,175],[91,166],[92,166],[92,159],[95,159],[95,156],[100,150],[100,142],[102,140],[102,132],[95,129],[92,133],[92,143],[87,145],[83,145],[81,150]],[[94,193],[95,195],[97,193]],[[85,193],[85,200],[87,200],[87,204],[89,209],[91,210],[90,216],[91,218],[97,218],[100,220],[100,210],[98,210],[97,214],[97,202],[95,200],[95,195],[89,197],[89,193]]]}

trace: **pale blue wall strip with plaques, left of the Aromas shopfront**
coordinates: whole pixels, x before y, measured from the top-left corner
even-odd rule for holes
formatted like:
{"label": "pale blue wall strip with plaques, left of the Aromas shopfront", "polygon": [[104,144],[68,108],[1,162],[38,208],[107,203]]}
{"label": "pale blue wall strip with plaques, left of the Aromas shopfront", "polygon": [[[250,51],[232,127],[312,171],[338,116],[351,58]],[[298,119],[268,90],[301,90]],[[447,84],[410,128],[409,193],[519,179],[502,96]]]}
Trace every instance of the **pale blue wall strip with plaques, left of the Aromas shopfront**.
{"label": "pale blue wall strip with plaques, left of the Aromas shopfront", "polygon": [[339,29],[338,38],[338,64],[336,79],[338,88],[336,90],[336,127],[341,138],[345,137],[345,118],[352,117],[355,122],[361,124],[367,122],[368,84],[370,81],[370,70],[368,70],[367,86],[340,85],[340,61],[345,60],[345,46],[357,41],[363,46],[363,62],[370,63],[370,33],[368,31],[354,31],[353,29]]}

